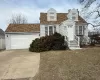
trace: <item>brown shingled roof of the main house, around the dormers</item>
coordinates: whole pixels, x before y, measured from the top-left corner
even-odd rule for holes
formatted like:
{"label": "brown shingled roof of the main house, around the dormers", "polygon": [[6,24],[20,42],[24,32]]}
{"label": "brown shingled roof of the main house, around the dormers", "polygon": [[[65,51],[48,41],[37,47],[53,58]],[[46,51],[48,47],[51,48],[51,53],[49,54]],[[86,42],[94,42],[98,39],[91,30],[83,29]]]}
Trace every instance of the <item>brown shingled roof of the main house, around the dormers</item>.
{"label": "brown shingled roof of the main house, around the dormers", "polygon": [[[57,13],[57,21],[47,21],[47,13],[40,13],[40,24],[60,24],[67,20],[68,13]],[[87,23],[82,17],[78,16],[79,21],[77,23]]]}

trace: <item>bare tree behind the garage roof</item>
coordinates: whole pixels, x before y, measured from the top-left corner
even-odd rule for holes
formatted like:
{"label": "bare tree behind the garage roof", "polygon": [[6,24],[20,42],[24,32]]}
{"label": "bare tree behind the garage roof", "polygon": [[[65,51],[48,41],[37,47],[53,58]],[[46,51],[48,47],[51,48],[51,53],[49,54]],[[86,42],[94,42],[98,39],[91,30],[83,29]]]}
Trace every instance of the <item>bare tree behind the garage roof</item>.
{"label": "bare tree behind the garage roof", "polygon": [[12,24],[25,24],[27,23],[27,19],[25,16],[21,14],[12,15],[12,18],[10,19],[10,23]]}

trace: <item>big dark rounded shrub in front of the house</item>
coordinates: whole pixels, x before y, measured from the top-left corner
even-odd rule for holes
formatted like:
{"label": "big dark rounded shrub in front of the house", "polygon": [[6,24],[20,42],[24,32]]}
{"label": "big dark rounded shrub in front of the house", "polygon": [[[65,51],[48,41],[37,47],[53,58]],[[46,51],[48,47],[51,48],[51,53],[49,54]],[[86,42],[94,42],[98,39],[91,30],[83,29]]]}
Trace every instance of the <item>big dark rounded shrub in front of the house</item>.
{"label": "big dark rounded shrub in front of the house", "polygon": [[67,48],[64,45],[64,36],[59,33],[55,33],[50,36],[40,37],[33,40],[30,44],[29,51],[31,52],[42,52],[49,50],[65,50]]}

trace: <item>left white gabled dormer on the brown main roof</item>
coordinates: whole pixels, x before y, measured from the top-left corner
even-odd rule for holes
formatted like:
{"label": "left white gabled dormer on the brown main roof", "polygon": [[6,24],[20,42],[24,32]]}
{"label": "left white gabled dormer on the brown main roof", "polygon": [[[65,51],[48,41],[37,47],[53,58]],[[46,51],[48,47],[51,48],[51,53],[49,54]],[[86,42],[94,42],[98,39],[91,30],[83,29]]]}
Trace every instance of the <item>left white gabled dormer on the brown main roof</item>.
{"label": "left white gabled dormer on the brown main roof", "polygon": [[57,21],[57,14],[55,9],[50,8],[47,11],[47,21]]}

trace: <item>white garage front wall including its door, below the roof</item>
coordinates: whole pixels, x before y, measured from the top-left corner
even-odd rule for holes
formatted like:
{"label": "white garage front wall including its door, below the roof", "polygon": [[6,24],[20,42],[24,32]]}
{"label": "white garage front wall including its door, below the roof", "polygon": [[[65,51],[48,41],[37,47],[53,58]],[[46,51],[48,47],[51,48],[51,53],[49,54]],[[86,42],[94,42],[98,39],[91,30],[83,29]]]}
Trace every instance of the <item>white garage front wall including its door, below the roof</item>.
{"label": "white garage front wall including its door, below the roof", "polygon": [[6,34],[6,49],[28,49],[32,40],[39,38],[39,33]]}

